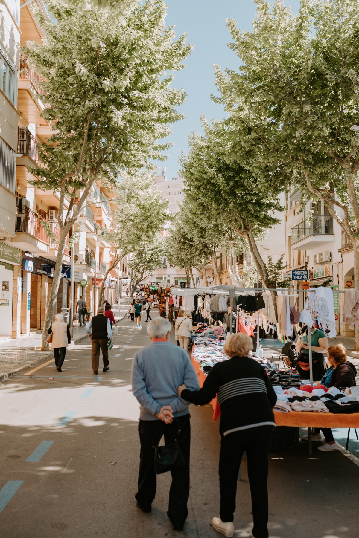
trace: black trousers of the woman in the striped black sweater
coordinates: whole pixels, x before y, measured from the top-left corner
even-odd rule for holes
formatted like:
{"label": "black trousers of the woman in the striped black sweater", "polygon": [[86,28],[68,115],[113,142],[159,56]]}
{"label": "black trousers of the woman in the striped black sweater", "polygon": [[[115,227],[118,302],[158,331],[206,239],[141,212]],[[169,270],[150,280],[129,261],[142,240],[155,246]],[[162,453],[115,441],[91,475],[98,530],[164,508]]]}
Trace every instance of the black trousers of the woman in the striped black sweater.
{"label": "black trousers of the woman in the striped black sweater", "polygon": [[237,477],[243,452],[247,454],[252,497],[253,536],[268,538],[268,448],[273,426],[258,426],[222,436],[220,451],[220,518],[233,521],[236,509]]}

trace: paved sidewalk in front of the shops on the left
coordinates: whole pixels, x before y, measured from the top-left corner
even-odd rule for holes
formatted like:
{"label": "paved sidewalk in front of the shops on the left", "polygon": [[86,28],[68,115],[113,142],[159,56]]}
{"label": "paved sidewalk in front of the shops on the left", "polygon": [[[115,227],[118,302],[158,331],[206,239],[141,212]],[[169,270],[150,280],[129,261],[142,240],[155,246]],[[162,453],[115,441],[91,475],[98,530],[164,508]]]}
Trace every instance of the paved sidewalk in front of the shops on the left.
{"label": "paved sidewalk in front of the shops on the left", "polygon": [[[126,305],[126,296],[120,299],[121,318],[126,314],[128,306]],[[112,307],[115,320],[119,319],[118,305]],[[25,338],[2,338],[0,339],[0,381],[11,377],[19,370],[28,366],[34,366],[45,359],[53,357],[52,350],[41,351],[41,335],[43,331],[32,332]],[[86,337],[86,327],[74,326],[74,336],[71,339],[70,347],[73,347],[76,341],[81,341]]]}

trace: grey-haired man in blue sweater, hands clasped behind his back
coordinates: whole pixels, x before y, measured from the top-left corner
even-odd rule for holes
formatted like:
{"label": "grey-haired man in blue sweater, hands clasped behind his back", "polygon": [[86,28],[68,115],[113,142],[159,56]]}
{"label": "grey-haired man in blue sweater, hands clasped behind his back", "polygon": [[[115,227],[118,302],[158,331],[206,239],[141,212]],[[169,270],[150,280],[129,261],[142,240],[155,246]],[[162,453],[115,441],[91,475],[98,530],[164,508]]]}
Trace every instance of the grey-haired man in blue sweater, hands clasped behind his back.
{"label": "grey-haired man in blue sweater, hands clasped behind his back", "polygon": [[188,402],[178,397],[177,387],[185,384],[187,388],[191,387],[190,390],[195,391],[199,389],[199,384],[187,351],[168,342],[171,328],[171,323],[163,317],[150,321],[147,332],[151,344],[133,356],[132,392],[140,404],[138,433],[141,443],[138,490],[135,497],[137,506],[143,512],[151,512],[156,495],[154,447],[163,434],[165,444],[171,443],[173,433],[177,434],[180,429],[178,444],[186,466],[171,471],[172,484],[167,515],[174,529],[181,530],[188,515],[191,426]]}

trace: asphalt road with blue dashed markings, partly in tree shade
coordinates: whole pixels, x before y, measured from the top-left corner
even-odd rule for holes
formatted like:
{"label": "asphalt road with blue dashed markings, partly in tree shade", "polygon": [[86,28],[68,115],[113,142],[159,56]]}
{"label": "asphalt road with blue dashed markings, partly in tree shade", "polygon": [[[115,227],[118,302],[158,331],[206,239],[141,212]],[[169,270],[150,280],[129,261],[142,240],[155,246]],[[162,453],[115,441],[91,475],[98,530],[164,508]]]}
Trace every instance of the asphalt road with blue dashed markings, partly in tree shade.
{"label": "asphalt road with blue dashed markings, partly in tree shade", "polygon": [[[158,315],[154,313],[154,315]],[[89,344],[0,386],[0,536],[215,538],[219,511],[219,424],[212,408],[191,407],[189,516],[182,533],[167,519],[169,473],[158,478],[151,514],[135,506],[139,460],[138,403],[131,393],[133,353],[147,345],[146,323],[123,320],[110,370],[95,378]],[[101,360],[101,359],[100,359]],[[54,379],[51,379],[54,378]],[[27,459],[35,461],[26,461]],[[114,463],[116,462],[116,463]],[[307,444],[270,453],[271,538],[356,538],[359,467],[339,451]],[[235,536],[251,536],[245,457],[238,482]]]}

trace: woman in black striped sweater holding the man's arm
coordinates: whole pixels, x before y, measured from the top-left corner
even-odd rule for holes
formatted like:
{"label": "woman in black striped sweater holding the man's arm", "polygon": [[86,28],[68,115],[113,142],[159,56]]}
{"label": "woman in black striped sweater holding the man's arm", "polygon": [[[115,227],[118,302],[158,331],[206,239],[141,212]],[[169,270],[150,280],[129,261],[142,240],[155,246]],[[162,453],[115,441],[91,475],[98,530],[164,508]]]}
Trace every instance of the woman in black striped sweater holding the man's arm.
{"label": "woman in black striped sweater holding the man's arm", "polygon": [[215,530],[231,538],[234,534],[237,477],[243,452],[247,454],[252,497],[254,538],[268,538],[268,448],[276,426],[272,408],[277,401],[263,367],[248,357],[252,339],[237,333],[228,336],[223,347],[230,357],[209,371],[199,391],[178,388],[178,395],[196,405],[216,397],[221,407],[220,517],[213,518]]}

